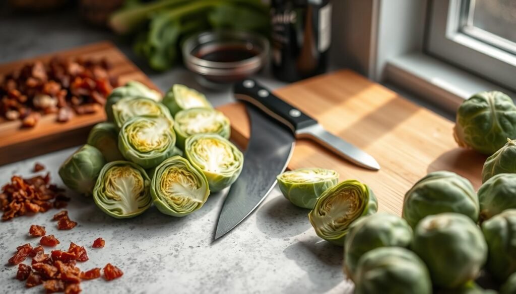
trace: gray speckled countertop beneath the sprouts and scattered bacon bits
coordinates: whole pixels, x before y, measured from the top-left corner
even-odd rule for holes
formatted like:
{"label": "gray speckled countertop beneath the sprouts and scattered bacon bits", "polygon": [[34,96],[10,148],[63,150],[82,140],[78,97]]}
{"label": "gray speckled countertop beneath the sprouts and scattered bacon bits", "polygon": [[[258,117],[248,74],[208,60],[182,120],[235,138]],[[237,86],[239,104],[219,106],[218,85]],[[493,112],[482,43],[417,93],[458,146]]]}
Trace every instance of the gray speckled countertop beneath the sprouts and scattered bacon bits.
{"label": "gray speckled countertop beneath the sprouts and scattered bacon bits", "polygon": [[[3,2],[5,4],[5,2]],[[114,41],[162,90],[172,83],[199,88],[193,76],[182,68],[154,73],[131,52],[130,46],[104,30],[91,29],[74,15],[16,15],[0,4],[0,63],[52,53],[101,40]],[[278,83],[258,77],[270,88]],[[204,90],[203,90],[204,91]],[[231,101],[229,91],[204,91],[214,105]],[[37,147],[35,147],[37,148]],[[0,166],[0,184],[14,174],[28,177],[35,162],[50,170],[52,181],[62,185],[57,170],[75,148],[70,148],[10,165]],[[2,154],[0,154],[2,156]],[[118,220],[102,213],[90,198],[72,195],[68,206],[78,226],[58,231],[51,221],[57,210],[19,217],[0,223],[0,289],[9,293],[41,293],[42,287],[26,289],[14,279],[16,267],[7,266],[15,248],[36,245],[28,236],[30,224],[46,227],[67,249],[70,241],[84,245],[90,260],[83,270],[103,267],[107,262],[124,271],[121,279],[82,283],[85,293],[351,293],[344,280],[342,248],[318,238],[308,221],[308,210],[300,209],[274,189],[264,203],[227,236],[212,243],[224,193],[211,195],[201,210],[174,218],[151,207],[133,219]],[[106,247],[93,249],[95,238]],[[49,251],[47,249],[46,251]]]}

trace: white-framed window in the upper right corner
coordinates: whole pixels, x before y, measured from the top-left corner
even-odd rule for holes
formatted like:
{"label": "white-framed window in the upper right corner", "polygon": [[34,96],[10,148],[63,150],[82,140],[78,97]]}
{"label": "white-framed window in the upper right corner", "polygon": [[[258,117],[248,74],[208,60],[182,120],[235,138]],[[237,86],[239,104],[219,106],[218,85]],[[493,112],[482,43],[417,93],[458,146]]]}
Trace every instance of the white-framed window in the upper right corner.
{"label": "white-framed window in the upper right corner", "polygon": [[516,1],[432,0],[426,51],[516,90]]}

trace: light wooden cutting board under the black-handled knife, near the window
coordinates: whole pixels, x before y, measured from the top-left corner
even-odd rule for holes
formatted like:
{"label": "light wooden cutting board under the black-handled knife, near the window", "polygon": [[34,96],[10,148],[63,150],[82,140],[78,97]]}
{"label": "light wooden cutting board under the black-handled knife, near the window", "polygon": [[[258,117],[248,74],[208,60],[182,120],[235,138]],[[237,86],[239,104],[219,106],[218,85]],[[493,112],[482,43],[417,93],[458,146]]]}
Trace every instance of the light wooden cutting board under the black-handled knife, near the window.
{"label": "light wooden cutting board under the black-handled knife, near the window", "polygon": [[[314,77],[274,93],[373,155],[381,166],[379,171],[366,170],[316,143],[298,140],[288,168],[331,168],[338,171],[341,180],[366,183],[378,197],[380,211],[400,215],[405,193],[431,171],[455,171],[475,188],[481,184],[486,157],[458,148],[453,139],[454,123],[354,72]],[[249,122],[244,105],[233,103],[218,109],[231,120],[232,139],[245,145]]]}

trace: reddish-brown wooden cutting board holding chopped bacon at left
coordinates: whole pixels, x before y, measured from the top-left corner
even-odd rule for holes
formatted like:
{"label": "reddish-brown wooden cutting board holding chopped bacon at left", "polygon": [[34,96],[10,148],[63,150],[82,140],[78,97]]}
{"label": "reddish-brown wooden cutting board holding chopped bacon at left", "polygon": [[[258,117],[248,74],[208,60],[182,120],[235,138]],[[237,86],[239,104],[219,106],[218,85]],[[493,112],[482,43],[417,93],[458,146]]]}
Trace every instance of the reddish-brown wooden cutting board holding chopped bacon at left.
{"label": "reddish-brown wooden cutting board holding chopped bacon at left", "polygon": [[[110,42],[95,43],[2,64],[0,65],[0,79],[26,63],[37,60],[48,61],[56,55],[67,58],[106,58],[112,65],[110,72],[119,76],[121,84],[129,80],[136,80],[158,90],[150,79]],[[84,144],[91,127],[104,120],[106,120],[106,115],[102,110],[94,114],[76,115],[66,123],[57,123],[56,114],[44,115],[34,128],[21,128],[20,120],[8,121],[0,118],[0,165]]]}

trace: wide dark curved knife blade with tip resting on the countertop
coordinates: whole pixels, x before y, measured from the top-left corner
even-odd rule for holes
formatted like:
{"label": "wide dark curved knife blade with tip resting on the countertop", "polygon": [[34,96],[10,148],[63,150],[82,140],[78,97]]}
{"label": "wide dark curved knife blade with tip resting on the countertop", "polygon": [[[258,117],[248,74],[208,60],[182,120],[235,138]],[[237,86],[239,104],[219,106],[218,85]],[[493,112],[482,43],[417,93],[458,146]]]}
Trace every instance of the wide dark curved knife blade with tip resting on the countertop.
{"label": "wide dark curved knife blade with tip resting on the countertop", "polygon": [[246,106],[251,136],[244,153],[244,166],[231,185],[220,211],[215,239],[231,231],[243,221],[276,185],[292,155],[295,137],[260,110]]}

